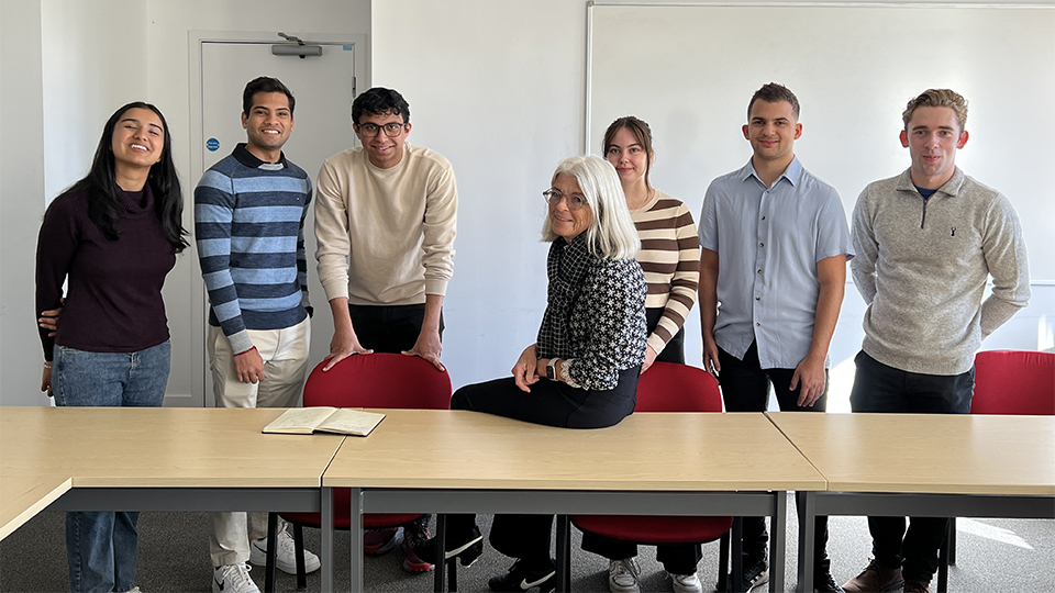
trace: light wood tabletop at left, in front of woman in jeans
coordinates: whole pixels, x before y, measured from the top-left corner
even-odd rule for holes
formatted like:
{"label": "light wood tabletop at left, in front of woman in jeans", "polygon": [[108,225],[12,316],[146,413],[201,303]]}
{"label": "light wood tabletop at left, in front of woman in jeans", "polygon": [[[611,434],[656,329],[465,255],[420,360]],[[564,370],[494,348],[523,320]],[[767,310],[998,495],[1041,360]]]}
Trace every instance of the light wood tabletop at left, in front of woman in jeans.
{"label": "light wood tabletop at left, in front of woman in jeans", "polygon": [[284,410],[0,407],[0,468],[74,488],[320,488],[340,435],[265,435]]}

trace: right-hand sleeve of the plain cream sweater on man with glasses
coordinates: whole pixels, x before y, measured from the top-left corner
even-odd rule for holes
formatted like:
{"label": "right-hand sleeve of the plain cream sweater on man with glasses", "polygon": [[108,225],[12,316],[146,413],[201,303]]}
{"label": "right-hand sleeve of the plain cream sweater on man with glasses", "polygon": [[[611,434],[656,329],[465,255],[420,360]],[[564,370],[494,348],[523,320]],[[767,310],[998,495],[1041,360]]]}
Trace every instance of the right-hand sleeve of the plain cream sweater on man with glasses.
{"label": "right-hand sleeve of the plain cream sweater on man with glasses", "polygon": [[458,189],[448,165],[429,182],[425,220],[422,225],[422,264],[425,294],[444,295],[454,276],[454,237],[457,233]]}

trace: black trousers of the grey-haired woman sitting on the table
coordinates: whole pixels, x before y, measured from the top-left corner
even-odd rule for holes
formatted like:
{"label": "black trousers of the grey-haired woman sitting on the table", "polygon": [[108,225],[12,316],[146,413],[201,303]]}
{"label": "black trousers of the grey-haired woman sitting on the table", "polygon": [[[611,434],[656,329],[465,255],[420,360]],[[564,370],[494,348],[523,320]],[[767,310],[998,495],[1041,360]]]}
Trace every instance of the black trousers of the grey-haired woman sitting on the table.
{"label": "black trousers of the grey-haired woman sitting on the table", "polygon": [[[508,418],[565,428],[603,428],[619,424],[634,411],[641,367],[619,373],[609,391],[590,391],[541,379],[525,393],[513,378],[465,385],[454,392],[452,410],[484,412]],[[463,540],[474,515],[447,515],[447,541]],[[524,560],[530,567],[548,566],[553,515],[496,515],[490,541],[496,550]],[[447,546],[448,548],[452,546]]]}

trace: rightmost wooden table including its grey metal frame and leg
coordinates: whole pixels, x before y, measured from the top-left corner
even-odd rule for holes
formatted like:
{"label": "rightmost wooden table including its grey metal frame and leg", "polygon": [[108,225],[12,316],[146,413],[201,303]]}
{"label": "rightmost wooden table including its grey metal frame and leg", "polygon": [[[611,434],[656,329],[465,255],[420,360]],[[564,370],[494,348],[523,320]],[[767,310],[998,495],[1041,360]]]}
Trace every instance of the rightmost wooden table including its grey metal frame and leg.
{"label": "rightmost wooden table including its grey metal frame and leg", "polygon": [[1055,518],[1055,416],[767,415],[828,480],[799,523],[806,591],[815,515]]}

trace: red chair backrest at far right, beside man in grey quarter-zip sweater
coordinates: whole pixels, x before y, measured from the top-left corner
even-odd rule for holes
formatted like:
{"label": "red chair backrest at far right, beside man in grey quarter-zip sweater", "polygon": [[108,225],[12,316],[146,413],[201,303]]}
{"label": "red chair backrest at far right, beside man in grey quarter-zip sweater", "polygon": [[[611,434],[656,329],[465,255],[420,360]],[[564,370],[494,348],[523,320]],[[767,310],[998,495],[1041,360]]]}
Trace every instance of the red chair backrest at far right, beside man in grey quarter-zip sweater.
{"label": "red chair backrest at far right, beside man in grey quarter-zip sweater", "polygon": [[970,413],[1055,415],[1055,353],[978,353]]}

